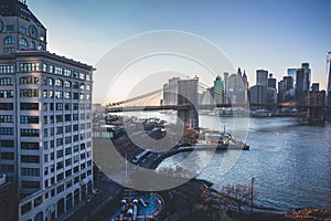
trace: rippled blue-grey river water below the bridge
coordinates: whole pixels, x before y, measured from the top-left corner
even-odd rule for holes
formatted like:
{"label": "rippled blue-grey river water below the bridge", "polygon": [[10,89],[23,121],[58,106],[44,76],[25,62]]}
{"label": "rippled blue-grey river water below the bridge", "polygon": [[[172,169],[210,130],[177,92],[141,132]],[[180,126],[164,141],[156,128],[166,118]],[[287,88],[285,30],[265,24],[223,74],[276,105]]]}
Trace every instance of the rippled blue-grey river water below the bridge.
{"label": "rippled blue-grey river water below the bridge", "polygon": [[[169,118],[167,115],[158,115]],[[167,158],[158,169],[181,165],[196,171],[221,190],[227,183],[250,185],[258,192],[255,203],[279,210],[331,209],[331,124],[308,126],[296,118],[220,118],[200,116],[200,126],[232,133],[250,146],[249,151],[182,152]],[[188,155],[193,155],[185,160]],[[227,160],[227,161],[226,161]]]}

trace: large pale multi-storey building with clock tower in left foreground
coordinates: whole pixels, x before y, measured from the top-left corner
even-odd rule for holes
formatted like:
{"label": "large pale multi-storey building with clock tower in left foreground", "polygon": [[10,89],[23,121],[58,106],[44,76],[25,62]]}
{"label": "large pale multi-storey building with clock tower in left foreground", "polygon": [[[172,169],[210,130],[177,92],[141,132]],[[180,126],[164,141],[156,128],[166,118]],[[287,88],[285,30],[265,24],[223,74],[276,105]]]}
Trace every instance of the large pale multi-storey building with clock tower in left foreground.
{"label": "large pale multi-storey building with clock tower in left foreground", "polygon": [[19,185],[20,220],[54,220],[92,193],[93,67],[49,53],[23,2],[0,14],[0,172]]}

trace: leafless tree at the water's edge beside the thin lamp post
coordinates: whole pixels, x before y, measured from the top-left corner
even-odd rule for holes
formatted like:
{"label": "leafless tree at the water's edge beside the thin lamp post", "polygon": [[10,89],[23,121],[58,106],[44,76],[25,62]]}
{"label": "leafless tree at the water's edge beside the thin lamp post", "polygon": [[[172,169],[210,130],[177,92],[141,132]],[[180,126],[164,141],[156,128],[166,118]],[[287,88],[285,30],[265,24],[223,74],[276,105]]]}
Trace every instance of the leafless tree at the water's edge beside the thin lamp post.
{"label": "leafless tree at the water's edge beside the thin lamp post", "polygon": [[257,196],[257,191],[254,190],[254,196],[252,196],[250,185],[226,185],[223,188],[225,197],[229,198],[229,201],[238,207],[238,210],[242,211],[243,204],[249,204],[252,197]]}

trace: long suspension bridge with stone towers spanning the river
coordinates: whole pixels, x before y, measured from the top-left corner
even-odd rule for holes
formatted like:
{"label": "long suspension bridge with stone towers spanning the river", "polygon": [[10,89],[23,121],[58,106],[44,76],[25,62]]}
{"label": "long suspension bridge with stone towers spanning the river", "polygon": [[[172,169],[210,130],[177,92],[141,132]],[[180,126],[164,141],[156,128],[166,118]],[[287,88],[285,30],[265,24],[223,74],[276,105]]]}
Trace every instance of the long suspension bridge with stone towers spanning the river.
{"label": "long suspension bridge with stone towers spanning the river", "polygon": [[[205,90],[206,85],[203,83],[197,84],[197,88]],[[242,108],[247,112],[257,108],[266,109],[281,109],[281,108],[297,108],[305,113],[303,119],[311,124],[323,124],[325,119],[331,116],[331,105],[325,104],[324,93],[309,92],[308,96],[301,101],[288,103],[213,103],[213,104],[199,104],[197,93],[192,95],[186,92],[175,94],[177,104],[160,104],[160,105],[145,105],[143,101],[150,97],[161,96],[163,88],[145,93],[139,96],[129,97],[115,103],[109,103],[106,106],[106,113],[121,113],[121,112],[156,112],[156,110],[175,110],[177,116],[183,120],[186,128],[199,128],[199,112],[204,109],[214,108]],[[193,96],[193,97],[192,97]],[[142,105],[141,105],[142,104]]]}

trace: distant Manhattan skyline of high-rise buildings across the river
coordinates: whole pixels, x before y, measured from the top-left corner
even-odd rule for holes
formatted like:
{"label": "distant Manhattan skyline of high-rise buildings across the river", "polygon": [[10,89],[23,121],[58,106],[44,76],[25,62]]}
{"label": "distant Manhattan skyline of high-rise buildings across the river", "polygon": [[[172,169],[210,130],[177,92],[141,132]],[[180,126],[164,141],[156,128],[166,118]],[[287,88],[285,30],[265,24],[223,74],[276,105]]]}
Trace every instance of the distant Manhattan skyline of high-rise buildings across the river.
{"label": "distant Manhattan skyline of high-rise buildings across the river", "polygon": [[[221,104],[268,104],[291,103],[308,104],[311,97],[319,96],[320,99],[328,96],[328,104],[331,104],[331,52],[328,53],[328,90],[320,91],[319,83],[311,83],[311,69],[309,63],[302,63],[300,67],[288,69],[287,75],[277,82],[273,73],[267,70],[256,71],[256,84],[249,87],[246,72],[224,73],[224,78],[220,75],[213,82],[212,87],[201,88],[199,84],[192,85],[193,80],[180,80],[173,77],[163,85],[162,105],[179,104],[178,93],[186,95],[190,99],[197,101],[200,105]],[[195,78],[195,82],[199,80]],[[179,85],[180,88],[179,88]],[[184,86],[185,85],[185,86]],[[204,86],[205,87],[205,86]],[[202,92],[201,92],[202,90]],[[195,97],[196,98],[193,98]]]}

